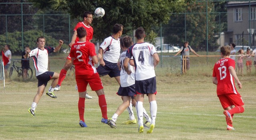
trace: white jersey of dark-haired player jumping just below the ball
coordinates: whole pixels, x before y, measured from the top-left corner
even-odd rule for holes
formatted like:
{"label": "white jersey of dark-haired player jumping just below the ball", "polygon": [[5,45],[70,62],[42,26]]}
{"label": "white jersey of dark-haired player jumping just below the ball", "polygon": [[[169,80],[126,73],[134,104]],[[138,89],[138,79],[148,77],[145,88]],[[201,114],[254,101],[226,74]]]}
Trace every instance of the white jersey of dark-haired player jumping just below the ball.
{"label": "white jersey of dark-haired player jumping just below the ball", "polygon": [[117,63],[120,56],[120,39],[114,39],[110,36],[101,43],[100,47],[103,49],[103,59],[111,62]]}

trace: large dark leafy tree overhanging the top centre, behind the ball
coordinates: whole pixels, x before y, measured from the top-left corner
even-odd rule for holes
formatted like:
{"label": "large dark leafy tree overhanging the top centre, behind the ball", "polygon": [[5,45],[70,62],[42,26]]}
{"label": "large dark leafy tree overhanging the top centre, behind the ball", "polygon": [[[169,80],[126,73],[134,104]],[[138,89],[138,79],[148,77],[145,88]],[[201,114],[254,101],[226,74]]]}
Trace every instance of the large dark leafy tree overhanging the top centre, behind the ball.
{"label": "large dark leafy tree overhanging the top centre, behind the ball", "polygon": [[97,7],[105,10],[103,18],[94,18],[94,38],[102,40],[112,34],[116,23],[124,25],[124,34],[142,26],[150,33],[152,26],[167,23],[170,13],[179,12],[191,0],[30,0],[40,9],[67,10],[73,18],[84,11],[94,13]]}

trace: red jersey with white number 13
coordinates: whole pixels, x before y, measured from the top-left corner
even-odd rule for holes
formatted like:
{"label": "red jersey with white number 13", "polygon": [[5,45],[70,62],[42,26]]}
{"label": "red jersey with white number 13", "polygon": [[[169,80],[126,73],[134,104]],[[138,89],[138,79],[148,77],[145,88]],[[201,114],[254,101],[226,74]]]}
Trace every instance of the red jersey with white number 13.
{"label": "red jersey with white number 13", "polygon": [[212,77],[217,77],[217,95],[229,93],[238,94],[234,77],[230,74],[228,69],[230,66],[235,69],[235,61],[231,58],[220,59],[214,65]]}

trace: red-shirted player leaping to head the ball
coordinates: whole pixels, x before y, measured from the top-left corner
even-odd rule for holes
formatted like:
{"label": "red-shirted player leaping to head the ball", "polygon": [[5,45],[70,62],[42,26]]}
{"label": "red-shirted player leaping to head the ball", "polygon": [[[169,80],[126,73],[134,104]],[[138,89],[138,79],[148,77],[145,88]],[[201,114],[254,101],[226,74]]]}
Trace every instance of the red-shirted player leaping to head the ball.
{"label": "red-shirted player leaping to head the ball", "polygon": [[[77,37],[77,29],[79,27],[83,27],[84,29],[86,29],[86,33],[87,33],[86,41],[91,42],[92,36],[93,36],[93,28],[92,28],[92,26],[90,26],[90,24],[92,24],[92,13],[86,11],[86,12],[84,12],[84,20],[82,22],[78,22],[78,24],[76,24],[76,27],[74,28],[74,34],[72,36],[71,43],[69,44],[70,47],[72,46],[72,44],[79,41],[79,37]],[[70,55],[68,55],[65,65],[63,66],[62,70],[60,71],[60,78],[58,80],[58,84],[54,88],[55,91],[60,90],[61,83],[65,79],[66,73],[67,73],[68,69],[70,69],[71,66],[72,66],[71,58],[70,58]],[[88,94],[86,94],[86,98],[92,99],[92,97],[90,97]]]}

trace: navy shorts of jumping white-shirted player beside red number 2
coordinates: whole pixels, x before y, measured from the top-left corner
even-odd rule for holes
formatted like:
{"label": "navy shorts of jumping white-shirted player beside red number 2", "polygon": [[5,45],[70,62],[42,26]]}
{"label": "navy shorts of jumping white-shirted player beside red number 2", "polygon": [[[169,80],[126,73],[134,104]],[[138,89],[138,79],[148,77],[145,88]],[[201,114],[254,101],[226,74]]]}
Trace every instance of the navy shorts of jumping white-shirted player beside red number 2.
{"label": "navy shorts of jumping white-shirted player beside red number 2", "polygon": [[109,75],[111,78],[120,76],[120,70],[117,63],[111,63],[106,60],[104,60],[104,62],[104,66],[100,65],[97,67],[97,72],[99,75]]}

